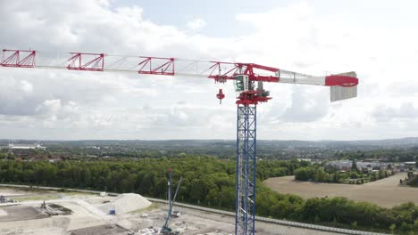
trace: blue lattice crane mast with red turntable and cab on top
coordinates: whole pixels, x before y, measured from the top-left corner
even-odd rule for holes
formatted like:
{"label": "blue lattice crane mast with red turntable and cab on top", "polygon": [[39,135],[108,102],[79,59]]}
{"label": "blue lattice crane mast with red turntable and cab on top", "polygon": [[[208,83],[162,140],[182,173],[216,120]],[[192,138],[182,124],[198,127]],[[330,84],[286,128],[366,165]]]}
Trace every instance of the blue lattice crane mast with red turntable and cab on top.
{"label": "blue lattice crane mast with red turntable and cab on top", "polygon": [[235,189],[235,234],[255,234],[255,175],[256,175],[256,105],[268,101],[263,83],[250,75],[236,77],[237,101],[237,168]]}

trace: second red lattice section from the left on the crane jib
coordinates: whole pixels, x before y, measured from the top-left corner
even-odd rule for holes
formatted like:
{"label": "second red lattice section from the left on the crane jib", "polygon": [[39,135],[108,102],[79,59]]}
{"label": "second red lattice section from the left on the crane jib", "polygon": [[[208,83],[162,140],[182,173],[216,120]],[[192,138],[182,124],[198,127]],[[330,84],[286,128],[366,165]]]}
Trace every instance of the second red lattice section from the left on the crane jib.
{"label": "second red lattice section from the left on the crane jib", "polygon": [[[104,70],[104,53],[71,53],[68,59],[67,69],[84,70],[84,71],[103,71]],[[83,58],[88,57],[88,62],[83,63]],[[93,59],[91,59],[93,58]]]}

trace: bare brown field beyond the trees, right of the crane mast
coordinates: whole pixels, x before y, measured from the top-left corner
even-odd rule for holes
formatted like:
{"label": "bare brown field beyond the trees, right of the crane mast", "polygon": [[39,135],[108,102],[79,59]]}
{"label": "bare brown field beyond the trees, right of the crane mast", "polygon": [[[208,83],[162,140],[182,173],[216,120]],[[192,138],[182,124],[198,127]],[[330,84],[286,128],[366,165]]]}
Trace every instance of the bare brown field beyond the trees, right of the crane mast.
{"label": "bare brown field beyond the trees, right of the crane mast", "polygon": [[388,178],[361,185],[299,182],[294,176],[275,177],[265,180],[264,185],[280,193],[297,194],[304,199],[315,197],[346,197],[355,201],[368,201],[380,207],[393,207],[412,201],[418,204],[418,188],[399,186],[406,174],[395,174]]}

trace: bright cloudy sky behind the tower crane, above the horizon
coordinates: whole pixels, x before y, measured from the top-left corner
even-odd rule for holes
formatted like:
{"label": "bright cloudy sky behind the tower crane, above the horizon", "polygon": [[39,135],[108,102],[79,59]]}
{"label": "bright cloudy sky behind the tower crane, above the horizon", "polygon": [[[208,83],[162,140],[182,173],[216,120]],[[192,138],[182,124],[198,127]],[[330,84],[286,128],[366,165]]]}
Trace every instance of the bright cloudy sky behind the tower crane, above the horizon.
{"label": "bright cloudy sky behind the tower crane, above the horizon", "polygon": [[[255,62],[356,71],[358,97],[264,85],[258,139],[418,136],[416,1],[0,1],[0,49]],[[40,59],[38,62],[42,62]],[[215,94],[223,88],[219,105]],[[234,139],[233,84],[210,79],[0,68],[0,139]]]}

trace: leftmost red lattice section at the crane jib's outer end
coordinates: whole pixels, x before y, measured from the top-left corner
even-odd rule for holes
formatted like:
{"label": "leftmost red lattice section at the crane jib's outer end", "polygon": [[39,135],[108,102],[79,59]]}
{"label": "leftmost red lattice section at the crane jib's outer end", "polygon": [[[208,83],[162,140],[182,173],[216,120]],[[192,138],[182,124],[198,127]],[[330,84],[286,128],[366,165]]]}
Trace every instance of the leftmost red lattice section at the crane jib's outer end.
{"label": "leftmost red lattice section at the crane jib's outer end", "polygon": [[[3,50],[1,66],[34,68],[36,51]],[[23,57],[23,59],[21,59]]]}

